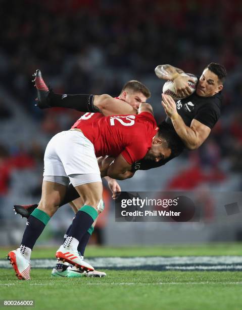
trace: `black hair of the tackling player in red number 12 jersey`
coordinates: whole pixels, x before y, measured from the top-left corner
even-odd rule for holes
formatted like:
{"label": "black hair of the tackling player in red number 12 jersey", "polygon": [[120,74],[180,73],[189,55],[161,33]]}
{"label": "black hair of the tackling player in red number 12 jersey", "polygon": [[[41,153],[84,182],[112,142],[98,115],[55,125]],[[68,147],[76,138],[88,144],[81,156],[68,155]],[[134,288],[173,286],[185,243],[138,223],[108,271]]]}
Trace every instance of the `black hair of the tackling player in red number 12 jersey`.
{"label": "black hair of the tackling player in red number 12 jersey", "polygon": [[175,132],[173,126],[163,121],[158,127],[158,135],[166,140],[167,146],[171,149],[170,157],[174,158],[180,155],[184,149],[184,144]]}

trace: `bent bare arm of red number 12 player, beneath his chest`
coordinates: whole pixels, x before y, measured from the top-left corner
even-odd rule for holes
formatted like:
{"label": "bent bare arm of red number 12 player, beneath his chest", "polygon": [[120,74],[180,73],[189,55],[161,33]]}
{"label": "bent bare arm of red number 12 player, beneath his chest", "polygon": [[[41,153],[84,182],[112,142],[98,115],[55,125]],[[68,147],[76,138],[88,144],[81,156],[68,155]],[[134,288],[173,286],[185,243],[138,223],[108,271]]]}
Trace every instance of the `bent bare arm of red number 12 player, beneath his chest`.
{"label": "bent bare arm of red number 12 player, beneath his chest", "polygon": [[131,172],[132,166],[126,162],[122,154],[119,154],[118,157],[111,163],[108,168],[108,176],[116,180],[126,180],[131,178],[134,175],[134,172]]}

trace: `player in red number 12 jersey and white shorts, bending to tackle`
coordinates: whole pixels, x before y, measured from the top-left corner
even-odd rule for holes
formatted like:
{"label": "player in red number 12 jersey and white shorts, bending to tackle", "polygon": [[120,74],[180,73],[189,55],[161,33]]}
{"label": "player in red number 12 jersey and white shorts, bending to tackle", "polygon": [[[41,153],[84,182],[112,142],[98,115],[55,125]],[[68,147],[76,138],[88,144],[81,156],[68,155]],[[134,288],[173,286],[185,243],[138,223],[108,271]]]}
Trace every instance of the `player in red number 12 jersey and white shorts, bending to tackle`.
{"label": "player in red number 12 jersey and white shorts, bending to tackle", "polygon": [[[114,101],[113,104],[118,103]],[[128,104],[123,104],[130,109]],[[98,122],[80,120],[75,128],[55,135],[44,154],[40,203],[28,218],[20,248],[8,254],[17,277],[30,279],[31,251],[64,198],[69,180],[83,198],[84,206],[76,213],[68,237],[56,256],[92,271],[93,267],[83,261],[77,247],[104,208],[96,156],[114,157],[107,170],[108,176],[122,180],[133,175],[131,165],[141,158],[155,162],[168,158],[176,150],[175,140],[172,131],[157,127],[152,107],[147,103],[140,105],[138,115],[102,117]]]}

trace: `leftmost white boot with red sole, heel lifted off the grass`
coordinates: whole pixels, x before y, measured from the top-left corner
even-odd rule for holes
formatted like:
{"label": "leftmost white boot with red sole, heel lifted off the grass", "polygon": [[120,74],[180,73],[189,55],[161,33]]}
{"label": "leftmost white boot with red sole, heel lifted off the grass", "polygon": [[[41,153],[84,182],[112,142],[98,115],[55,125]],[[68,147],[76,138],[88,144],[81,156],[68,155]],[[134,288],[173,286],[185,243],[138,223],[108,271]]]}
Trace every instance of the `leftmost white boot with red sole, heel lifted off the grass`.
{"label": "leftmost white boot with red sole, heel lifted off the grass", "polygon": [[12,264],[16,277],[19,280],[30,280],[30,261],[20,252],[20,248],[10,251],[8,259]]}

